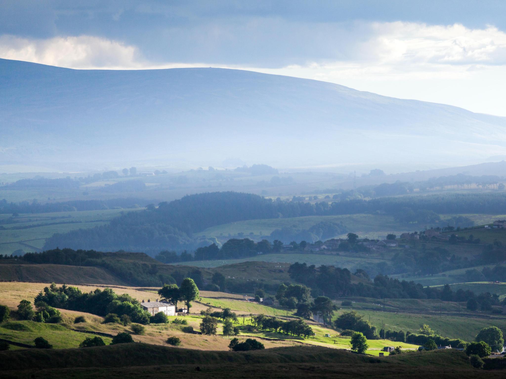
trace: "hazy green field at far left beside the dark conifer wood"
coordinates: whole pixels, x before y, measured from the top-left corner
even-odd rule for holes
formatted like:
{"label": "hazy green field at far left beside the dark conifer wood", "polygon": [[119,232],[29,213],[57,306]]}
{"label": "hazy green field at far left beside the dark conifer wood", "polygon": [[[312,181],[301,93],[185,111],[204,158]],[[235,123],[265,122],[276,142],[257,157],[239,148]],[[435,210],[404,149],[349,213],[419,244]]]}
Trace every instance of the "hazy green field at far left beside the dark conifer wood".
{"label": "hazy green field at far left beside the dark conifer wood", "polygon": [[[25,252],[40,251],[46,239],[54,233],[104,225],[121,212],[140,209],[144,208],[20,214],[18,217],[2,214],[0,225],[4,229],[0,230],[0,254],[10,255],[18,249]],[[16,222],[10,223],[11,221]],[[18,227],[26,228],[18,229]]]}

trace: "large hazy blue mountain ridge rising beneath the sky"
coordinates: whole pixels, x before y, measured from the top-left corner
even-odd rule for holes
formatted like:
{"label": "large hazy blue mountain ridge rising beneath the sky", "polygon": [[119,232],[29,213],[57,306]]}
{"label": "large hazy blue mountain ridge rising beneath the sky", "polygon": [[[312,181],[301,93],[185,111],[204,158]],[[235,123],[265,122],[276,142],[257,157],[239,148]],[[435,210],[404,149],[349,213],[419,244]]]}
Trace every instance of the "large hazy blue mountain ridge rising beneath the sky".
{"label": "large hazy blue mountain ridge rising beneath the sky", "polygon": [[290,167],[506,154],[506,118],[215,68],[72,70],[0,59],[0,161],[237,156]]}

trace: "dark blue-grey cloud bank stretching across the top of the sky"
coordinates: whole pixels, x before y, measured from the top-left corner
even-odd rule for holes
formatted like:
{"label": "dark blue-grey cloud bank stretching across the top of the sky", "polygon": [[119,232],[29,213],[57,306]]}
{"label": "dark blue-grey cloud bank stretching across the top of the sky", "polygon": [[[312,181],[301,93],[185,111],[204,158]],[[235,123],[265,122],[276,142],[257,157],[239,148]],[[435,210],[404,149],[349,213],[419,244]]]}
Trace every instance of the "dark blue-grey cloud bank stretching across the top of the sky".
{"label": "dark blue-grey cloud bank stretching across the top of the sky", "polygon": [[505,13],[506,2],[469,0],[4,0],[0,35],[90,35],[135,45],[151,62],[282,67],[357,59],[371,21],[505,30]]}

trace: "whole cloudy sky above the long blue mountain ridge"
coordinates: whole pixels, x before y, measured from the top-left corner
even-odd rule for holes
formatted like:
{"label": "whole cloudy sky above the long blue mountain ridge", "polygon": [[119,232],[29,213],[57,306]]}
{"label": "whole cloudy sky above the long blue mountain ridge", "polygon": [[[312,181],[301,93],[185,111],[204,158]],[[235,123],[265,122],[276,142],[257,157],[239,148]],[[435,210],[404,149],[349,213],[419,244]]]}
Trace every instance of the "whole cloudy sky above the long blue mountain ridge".
{"label": "whole cloudy sky above the long blue mountain ridge", "polygon": [[506,116],[502,0],[2,0],[0,58],[223,67]]}

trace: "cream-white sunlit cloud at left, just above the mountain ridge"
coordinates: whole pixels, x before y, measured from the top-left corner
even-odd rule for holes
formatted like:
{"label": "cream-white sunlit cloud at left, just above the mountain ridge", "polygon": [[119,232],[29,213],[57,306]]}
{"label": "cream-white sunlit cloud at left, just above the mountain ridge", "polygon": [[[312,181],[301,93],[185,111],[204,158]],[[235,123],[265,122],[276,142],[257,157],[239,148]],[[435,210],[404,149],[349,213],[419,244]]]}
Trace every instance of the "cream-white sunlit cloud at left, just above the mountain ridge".
{"label": "cream-white sunlit cloud at left, just above the mountain ridge", "polygon": [[149,64],[135,46],[88,35],[49,39],[4,35],[0,37],[0,58],[77,69],[142,68]]}

